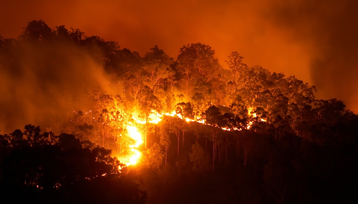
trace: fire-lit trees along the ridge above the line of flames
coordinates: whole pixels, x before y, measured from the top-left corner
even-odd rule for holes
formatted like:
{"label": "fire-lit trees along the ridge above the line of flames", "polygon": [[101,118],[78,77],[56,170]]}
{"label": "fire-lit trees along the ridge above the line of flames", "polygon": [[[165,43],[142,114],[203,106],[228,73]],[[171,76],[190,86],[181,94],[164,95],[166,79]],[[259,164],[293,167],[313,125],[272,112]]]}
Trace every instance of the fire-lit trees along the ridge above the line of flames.
{"label": "fire-lit trees along the ridge above the line of flames", "polygon": [[[97,122],[109,124],[115,120],[123,127],[131,118],[128,111],[136,110],[139,117],[148,120],[150,111],[170,112],[184,102],[193,109],[189,113],[192,118],[203,119],[211,106],[226,106],[231,118],[248,123],[255,116],[254,126],[264,119],[265,127],[274,129],[277,136],[285,127],[295,135],[323,143],[334,137],[325,126],[355,117],[340,100],[315,99],[315,87],[294,76],[248,67],[238,52],[228,56],[228,69],[224,69],[215,51],[202,43],[184,45],[176,60],[158,46],[141,57],[137,52],[120,49],[116,42],[87,37],[78,29],[68,30],[62,25],[52,30],[41,20],[31,21],[18,39],[0,38],[3,69],[16,71],[13,60],[21,56],[14,56],[18,54],[15,50],[26,42],[43,46],[56,42],[75,44],[103,65],[117,94],[93,93],[91,113]],[[317,134],[321,131],[326,136]]]}

